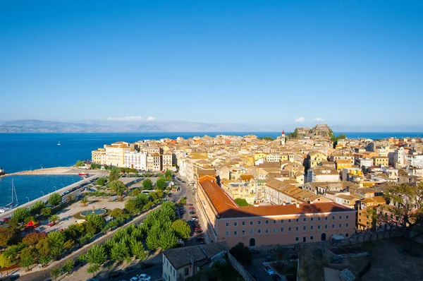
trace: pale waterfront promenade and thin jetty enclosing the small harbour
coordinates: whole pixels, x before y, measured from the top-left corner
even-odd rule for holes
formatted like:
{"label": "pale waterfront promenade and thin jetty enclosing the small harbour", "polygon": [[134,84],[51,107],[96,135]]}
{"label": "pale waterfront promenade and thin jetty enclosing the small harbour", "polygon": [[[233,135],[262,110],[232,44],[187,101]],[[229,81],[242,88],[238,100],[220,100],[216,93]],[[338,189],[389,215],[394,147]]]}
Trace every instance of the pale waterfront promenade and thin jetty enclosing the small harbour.
{"label": "pale waterfront promenade and thin jetty enclosing the small harbour", "polygon": [[[53,169],[56,169],[56,174],[65,174],[65,173],[59,173],[59,172],[57,172],[57,168],[51,168],[50,169],[50,172],[53,171]],[[76,170],[74,170],[74,169],[68,169],[68,170],[73,170],[73,174],[75,174],[75,172],[80,171],[79,169],[76,169]],[[41,171],[41,170],[37,170],[37,171]],[[62,169],[62,171],[63,171],[63,169]],[[60,194],[60,193],[63,193],[64,191],[67,191],[69,189],[72,189],[73,187],[79,186],[80,184],[83,184],[83,183],[85,183],[87,181],[91,181],[92,179],[96,179],[97,177],[106,177],[108,175],[108,172],[106,172],[106,171],[100,171],[100,170],[89,170],[88,172],[90,174],[90,177],[87,177],[85,179],[82,179],[81,181],[77,181],[74,184],[65,186],[62,189],[58,189],[57,191],[54,191],[54,192],[51,192],[51,193],[59,193]],[[18,174],[18,173],[14,173],[14,174]],[[18,205],[17,208],[20,208],[20,207],[30,208],[37,201],[46,201],[46,200],[49,200],[49,196],[51,195],[51,193],[47,193],[44,196],[41,196],[41,197],[39,197],[39,198],[37,198],[35,200],[32,200],[30,202],[27,202],[25,204]],[[12,209],[12,210],[8,210],[8,211],[6,211],[4,213],[1,213],[0,214],[0,220],[3,220],[5,217],[11,217],[11,215],[12,215],[12,213],[13,213],[14,210],[15,209]]]}

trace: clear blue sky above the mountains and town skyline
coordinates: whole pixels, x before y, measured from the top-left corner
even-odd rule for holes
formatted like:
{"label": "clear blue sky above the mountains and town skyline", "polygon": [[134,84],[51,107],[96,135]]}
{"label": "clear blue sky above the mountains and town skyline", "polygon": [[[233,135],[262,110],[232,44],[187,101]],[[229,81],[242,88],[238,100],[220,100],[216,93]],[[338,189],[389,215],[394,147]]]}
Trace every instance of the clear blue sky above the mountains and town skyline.
{"label": "clear blue sky above the mountains and town skyline", "polygon": [[422,14],[420,0],[1,1],[0,120],[420,130]]}

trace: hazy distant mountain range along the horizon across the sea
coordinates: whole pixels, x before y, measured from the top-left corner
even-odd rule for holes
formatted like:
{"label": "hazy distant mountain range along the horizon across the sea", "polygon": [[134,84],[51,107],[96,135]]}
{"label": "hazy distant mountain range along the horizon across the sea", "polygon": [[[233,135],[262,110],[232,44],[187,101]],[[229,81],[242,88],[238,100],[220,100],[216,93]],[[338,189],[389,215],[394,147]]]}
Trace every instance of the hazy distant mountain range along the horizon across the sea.
{"label": "hazy distant mountain range along the horizon across the sea", "polygon": [[0,123],[0,133],[114,133],[114,132],[245,132],[276,131],[245,124],[206,124],[188,121],[106,121],[70,123],[42,120],[16,120]]}

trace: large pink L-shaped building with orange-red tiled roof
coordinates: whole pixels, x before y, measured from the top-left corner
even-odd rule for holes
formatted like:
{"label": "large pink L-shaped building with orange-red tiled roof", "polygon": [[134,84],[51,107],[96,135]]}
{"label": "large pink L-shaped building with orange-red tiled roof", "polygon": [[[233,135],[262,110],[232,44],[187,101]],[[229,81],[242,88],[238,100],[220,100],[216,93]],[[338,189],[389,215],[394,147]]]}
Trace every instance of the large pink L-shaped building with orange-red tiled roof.
{"label": "large pink L-shaped building with orange-red tiled roof", "polygon": [[337,203],[240,207],[216,184],[214,175],[197,178],[197,205],[212,241],[229,247],[295,244],[355,232],[355,210]]}

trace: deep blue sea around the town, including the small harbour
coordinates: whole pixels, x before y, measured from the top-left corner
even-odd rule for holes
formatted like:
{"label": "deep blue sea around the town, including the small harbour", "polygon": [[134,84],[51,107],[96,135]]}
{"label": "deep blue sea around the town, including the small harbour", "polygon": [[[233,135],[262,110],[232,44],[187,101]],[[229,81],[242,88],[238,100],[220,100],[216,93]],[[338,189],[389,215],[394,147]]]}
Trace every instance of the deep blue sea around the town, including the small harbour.
{"label": "deep blue sea around the town, including the small harbour", "polygon": [[[335,132],[338,136],[343,132]],[[91,158],[91,151],[104,144],[119,140],[133,143],[137,140],[159,140],[161,138],[192,138],[194,136],[254,134],[258,137],[276,138],[281,132],[202,132],[202,133],[0,133],[0,167],[13,173],[32,169],[71,166],[77,160]],[[347,138],[403,138],[423,136],[423,133],[344,133]],[[58,145],[60,142],[60,145]],[[0,205],[9,203],[12,177],[0,178]],[[13,176],[19,202],[25,203],[51,192],[56,188],[72,184],[78,176]],[[56,187],[55,187],[56,186]]]}

